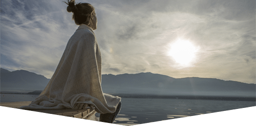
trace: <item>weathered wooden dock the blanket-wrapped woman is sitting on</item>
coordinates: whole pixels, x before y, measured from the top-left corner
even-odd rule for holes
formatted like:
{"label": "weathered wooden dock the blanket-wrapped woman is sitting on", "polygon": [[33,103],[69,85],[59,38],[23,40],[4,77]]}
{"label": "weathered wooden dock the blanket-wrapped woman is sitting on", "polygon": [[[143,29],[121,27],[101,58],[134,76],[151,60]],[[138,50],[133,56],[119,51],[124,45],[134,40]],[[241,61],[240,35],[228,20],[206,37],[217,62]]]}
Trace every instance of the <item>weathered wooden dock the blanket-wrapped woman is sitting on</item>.
{"label": "weathered wooden dock the blanket-wrapped woman is sitting on", "polygon": [[[20,108],[21,106],[27,106],[30,103],[31,101],[3,102],[3,103],[0,103],[0,106]],[[97,117],[95,116],[95,113],[96,113],[95,109],[90,109],[90,108],[89,109],[55,109],[55,110],[36,109],[36,110],[30,110],[30,111],[98,121]]]}

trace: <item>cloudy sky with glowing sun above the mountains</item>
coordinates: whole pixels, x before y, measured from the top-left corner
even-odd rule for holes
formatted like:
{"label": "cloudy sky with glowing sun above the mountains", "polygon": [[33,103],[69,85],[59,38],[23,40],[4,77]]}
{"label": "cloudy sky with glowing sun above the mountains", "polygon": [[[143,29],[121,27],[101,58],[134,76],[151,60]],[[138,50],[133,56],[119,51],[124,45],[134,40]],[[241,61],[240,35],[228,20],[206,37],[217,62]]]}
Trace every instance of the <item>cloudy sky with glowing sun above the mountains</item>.
{"label": "cloudy sky with glowing sun above the mountains", "polygon": [[[64,1],[64,0],[63,0]],[[255,81],[255,1],[90,0],[102,74]],[[62,1],[1,1],[1,68],[51,78],[78,28]]]}

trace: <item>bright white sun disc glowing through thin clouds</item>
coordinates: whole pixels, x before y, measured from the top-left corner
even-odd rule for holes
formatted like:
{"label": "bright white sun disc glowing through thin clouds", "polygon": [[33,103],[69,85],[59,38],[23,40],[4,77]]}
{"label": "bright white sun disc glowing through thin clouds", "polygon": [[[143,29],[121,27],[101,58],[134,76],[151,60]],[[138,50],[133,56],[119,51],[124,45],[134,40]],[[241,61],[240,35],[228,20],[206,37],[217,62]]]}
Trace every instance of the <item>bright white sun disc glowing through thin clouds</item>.
{"label": "bright white sun disc glowing through thin clouds", "polygon": [[181,65],[189,65],[195,58],[196,52],[197,49],[191,42],[179,39],[171,45],[168,54]]}

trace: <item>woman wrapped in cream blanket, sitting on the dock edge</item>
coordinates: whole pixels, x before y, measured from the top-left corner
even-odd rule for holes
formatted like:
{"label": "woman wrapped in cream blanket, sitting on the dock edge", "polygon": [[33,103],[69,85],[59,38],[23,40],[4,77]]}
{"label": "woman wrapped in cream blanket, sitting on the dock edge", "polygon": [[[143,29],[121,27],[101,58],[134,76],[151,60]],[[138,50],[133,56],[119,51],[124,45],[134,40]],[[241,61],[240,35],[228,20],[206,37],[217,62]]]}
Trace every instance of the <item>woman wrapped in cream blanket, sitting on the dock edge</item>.
{"label": "woman wrapped in cream blanket, sitting on the dock edge", "polygon": [[[64,2],[66,3],[66,2]],[[78,29],[69,39],[60,62],[42,93],[21,109],[82,109],[94,107],[100,121],[113,123],[121,98],[102,92],[101,52],[93,30],[97,29],[91,4],[67,1],[67,12]]]}

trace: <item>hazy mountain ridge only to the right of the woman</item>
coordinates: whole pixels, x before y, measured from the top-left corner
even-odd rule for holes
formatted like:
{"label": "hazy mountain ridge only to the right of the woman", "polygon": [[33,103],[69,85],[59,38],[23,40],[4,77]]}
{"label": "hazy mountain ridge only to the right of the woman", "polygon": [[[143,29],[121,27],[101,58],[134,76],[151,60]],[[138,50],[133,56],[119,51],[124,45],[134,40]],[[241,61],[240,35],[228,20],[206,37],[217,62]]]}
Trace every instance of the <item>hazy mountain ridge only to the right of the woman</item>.
{"label": "hazy mountain ridge only to the right of the woman", "polygon": [[[254,96],[255,84],[215,78],[173,78],[161,74],[102,75],[103,92],[158,95]],[[111,92],[112,91],[112,92]]]}

